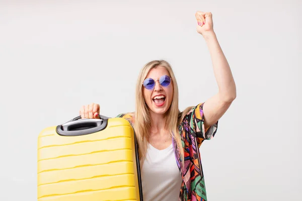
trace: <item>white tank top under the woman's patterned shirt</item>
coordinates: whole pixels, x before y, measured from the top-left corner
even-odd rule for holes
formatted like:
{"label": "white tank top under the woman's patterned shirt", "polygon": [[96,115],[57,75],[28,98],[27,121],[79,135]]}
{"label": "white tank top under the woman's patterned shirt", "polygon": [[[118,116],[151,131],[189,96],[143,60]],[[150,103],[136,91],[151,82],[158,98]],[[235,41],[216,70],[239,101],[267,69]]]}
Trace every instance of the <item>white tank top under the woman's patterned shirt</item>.
{"label": "white tank top under the woman's patterned shirt", "polygon": [[158,150],[148,144],[146,158],[141,167],[144,201],[177,201],[182,183],[173,150],[173,144]]}

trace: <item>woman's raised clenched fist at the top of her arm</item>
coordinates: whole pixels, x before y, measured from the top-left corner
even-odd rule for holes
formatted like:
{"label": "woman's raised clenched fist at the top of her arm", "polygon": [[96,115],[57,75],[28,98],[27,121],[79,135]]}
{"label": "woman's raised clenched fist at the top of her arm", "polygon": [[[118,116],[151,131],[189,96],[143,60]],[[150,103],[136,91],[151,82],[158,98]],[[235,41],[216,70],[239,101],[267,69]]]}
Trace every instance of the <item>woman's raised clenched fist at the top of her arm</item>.
{"label": "woman's raised clenched fist at the top of her arm", "polygon": [[201,11],[197,11],[195,13],[195,17],[197,20],[197,32],[202,36],[206,36],[207,34],[214,33],[213,30],[213,20],[211,13],[204,13]]}

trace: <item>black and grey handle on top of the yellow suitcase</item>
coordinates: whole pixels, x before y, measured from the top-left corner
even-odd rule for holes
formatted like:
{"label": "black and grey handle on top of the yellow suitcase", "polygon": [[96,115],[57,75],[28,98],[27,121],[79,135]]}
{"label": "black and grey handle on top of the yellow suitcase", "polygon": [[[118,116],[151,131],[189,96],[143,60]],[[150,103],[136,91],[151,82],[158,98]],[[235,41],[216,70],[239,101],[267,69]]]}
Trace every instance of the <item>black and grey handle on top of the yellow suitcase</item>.
{"label": "black and grey handle on top of the yellow suitcase", "polygon": [[104,130],[107,127],[108,117],[99,115],[100,119],[81,119],[81,116],[58,125],[56,132],[61,136],[89,135]]}

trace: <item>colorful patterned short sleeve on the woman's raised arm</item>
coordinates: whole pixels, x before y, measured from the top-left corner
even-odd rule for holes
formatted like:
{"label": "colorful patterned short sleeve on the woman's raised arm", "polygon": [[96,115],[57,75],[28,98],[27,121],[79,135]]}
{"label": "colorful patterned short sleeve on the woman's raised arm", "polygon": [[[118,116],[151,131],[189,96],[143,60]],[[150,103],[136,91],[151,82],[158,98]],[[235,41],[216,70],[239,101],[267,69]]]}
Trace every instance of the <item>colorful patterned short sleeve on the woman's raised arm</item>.
{"label": "colorful patterned short sleeve on the woman's raised arm", "polygon": [[204,103],[198,104],[187,113],[190,132],[197,137],[198,147],[204,140],[212,139],[215,136],[218,127],[217,121],[209,128],[204,128],[203,104]]}

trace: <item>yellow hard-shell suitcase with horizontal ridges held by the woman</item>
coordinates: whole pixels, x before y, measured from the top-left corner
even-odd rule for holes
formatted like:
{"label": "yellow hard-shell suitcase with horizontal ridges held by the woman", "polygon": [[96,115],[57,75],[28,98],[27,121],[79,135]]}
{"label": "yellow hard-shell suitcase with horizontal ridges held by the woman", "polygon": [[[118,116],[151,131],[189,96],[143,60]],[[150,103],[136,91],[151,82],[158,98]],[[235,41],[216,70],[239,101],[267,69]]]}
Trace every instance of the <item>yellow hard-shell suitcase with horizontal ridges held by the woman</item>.
{"label": "yellow hard-shell suitcase with horizontal ridges held by the woman", "polygon": [[74,118],[38,137],[38,201],[142,200],[134,130],[123,118]]}

